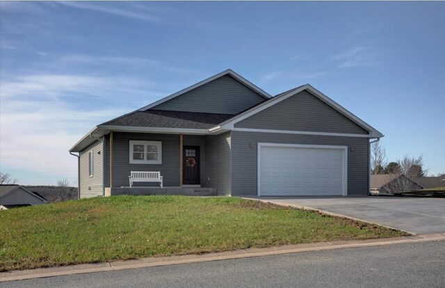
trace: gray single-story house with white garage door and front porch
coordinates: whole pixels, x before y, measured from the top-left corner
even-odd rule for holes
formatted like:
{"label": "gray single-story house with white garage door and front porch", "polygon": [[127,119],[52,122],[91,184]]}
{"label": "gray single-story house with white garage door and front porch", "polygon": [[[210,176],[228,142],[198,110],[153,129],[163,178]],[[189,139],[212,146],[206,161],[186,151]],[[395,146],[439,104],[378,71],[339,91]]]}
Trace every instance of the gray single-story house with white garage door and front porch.
{"label": "gray single-story house with white garage door and front porch", "polygon": [[[370,141],[382,136],[309,84],[271,97],[226,70],[95,126],[70,153],[81,198],[367,195]],[[130,189],[131,171],[159,171],[163,188]]]}

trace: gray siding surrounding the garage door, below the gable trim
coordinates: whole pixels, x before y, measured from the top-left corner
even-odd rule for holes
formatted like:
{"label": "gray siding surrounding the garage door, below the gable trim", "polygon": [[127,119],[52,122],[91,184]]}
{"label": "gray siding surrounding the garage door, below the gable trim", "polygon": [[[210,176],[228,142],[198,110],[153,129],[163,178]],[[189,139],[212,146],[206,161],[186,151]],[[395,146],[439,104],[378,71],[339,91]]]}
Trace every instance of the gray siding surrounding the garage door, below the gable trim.
{"label": "gray siding surrounding the garage door, below the gable trim", "polygon": [[[232,131],[232,195],[257,195],[257,143],[348,146],[348,195],[368,194],[368,138]],[[350,148],[353,150],[351,151]]]}

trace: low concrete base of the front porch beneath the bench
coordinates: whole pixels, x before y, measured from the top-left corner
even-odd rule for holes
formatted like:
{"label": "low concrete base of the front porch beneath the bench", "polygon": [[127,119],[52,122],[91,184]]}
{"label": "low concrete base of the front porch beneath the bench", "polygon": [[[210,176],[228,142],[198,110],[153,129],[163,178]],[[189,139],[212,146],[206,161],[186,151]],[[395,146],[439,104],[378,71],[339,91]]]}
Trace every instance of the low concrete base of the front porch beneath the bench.
{"label": "low concrete base of the front porch beneath the bench", "polygon": [[115,195],[185,195],[185,196],[215,196],[214,188],[195,187],[107,187],[105,196]]}

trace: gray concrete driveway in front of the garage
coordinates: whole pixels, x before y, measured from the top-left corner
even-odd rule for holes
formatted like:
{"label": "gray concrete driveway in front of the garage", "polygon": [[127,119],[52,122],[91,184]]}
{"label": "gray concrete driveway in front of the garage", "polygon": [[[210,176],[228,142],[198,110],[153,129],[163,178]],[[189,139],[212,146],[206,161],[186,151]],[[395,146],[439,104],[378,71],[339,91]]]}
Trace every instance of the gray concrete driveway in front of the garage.
{"label": "gray concrete driveway in front of the garage", "polygon": [[445,232],[444,198],[368,196],[261,197],[252,199],[323,210],[414,234]]}

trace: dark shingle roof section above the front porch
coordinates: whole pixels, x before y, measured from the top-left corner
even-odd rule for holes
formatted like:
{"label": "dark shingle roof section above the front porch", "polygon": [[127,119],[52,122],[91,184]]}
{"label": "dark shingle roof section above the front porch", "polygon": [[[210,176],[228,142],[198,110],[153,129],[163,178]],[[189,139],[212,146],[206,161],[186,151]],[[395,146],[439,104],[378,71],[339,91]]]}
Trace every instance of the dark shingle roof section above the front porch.
{"label": "dark shingle roof section above the front porch", "polygon": [[101,125],[210,129],[232,117],[231,114],[147,110],[134,111]]}

